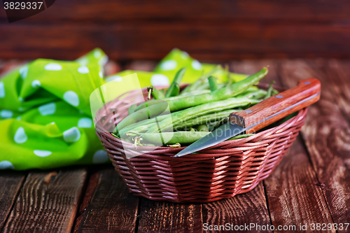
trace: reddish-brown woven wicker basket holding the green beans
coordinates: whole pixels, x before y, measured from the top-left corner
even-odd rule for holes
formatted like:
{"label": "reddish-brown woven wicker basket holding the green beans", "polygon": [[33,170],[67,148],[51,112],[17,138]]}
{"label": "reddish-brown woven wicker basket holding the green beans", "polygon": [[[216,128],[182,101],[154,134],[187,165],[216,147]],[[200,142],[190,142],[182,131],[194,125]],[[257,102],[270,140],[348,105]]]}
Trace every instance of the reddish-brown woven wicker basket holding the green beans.
{"label": "reddish-brown woven wicker basket holding the green beans", "polygon": [[[252,190],[281,162],[307,114],[304,108],[281,125],[245,139],[224,141],[199,154],[173,157],[183,148],[135,149],[132,143],[122,144],[106,131],[127,116],[131,104],[143,101],[135,93],[107,103],[104,109],[109,109],[109,114],[100,109],[97,117],[104,119],[104,123],[97,123],[96,130],[130,192],[156,201],[214,202]],[[146,93],[144,90],[145,97]],[[127,153],[141,150],[144,155],[127,158],[125,150]]]}

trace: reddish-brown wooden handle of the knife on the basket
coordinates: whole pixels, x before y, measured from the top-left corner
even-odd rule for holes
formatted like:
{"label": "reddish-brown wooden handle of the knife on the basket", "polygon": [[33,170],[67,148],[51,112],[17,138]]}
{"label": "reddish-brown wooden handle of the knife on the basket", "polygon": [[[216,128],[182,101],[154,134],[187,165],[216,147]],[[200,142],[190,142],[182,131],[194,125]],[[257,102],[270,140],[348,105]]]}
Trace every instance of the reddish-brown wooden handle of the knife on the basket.
{"label": "reddish-brown wooden handle of the knife on the basket", "polygon": [[314,104],[320,95],[320,81],[316,78],[301,80],[296,87],[275,94],[244,111],[231,113],[230,122],[248,128],[246,134],[255,133],[290,113]]}

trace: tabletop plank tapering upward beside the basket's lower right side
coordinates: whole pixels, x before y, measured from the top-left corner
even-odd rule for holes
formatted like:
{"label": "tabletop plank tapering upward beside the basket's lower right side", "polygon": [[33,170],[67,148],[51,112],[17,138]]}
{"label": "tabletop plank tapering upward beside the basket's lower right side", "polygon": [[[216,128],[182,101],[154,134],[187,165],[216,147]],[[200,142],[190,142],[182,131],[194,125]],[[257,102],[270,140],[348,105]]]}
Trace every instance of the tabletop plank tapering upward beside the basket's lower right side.
{"label": "tabletop plank tapering upward beside the basket's lower right side", "polygon": [[[333,223],[318,178],[300,137],[274,172],[264,180],[272,225],[295,226]],[[293,228],[290,228],[292,230]],[[323,232],[335,232],[327,230]],[[279,231],[277,231],[279,232]],[[292,231],[290,231],[292,232]]]}

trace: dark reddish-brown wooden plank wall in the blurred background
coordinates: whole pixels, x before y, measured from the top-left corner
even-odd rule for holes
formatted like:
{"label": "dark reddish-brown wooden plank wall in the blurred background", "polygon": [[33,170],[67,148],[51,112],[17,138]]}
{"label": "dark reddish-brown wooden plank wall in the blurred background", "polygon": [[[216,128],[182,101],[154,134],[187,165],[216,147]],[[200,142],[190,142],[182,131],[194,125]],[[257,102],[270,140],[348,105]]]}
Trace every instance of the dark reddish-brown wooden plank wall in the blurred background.
{"label": "dark reddish-brown wooden plank wall in the blurred background", "polygon": [[8,23],[0,59],[76,59],[99,47],[111,59],[161,59],[172,48],[201,60],[350,58],[350,1],[57,0]]}

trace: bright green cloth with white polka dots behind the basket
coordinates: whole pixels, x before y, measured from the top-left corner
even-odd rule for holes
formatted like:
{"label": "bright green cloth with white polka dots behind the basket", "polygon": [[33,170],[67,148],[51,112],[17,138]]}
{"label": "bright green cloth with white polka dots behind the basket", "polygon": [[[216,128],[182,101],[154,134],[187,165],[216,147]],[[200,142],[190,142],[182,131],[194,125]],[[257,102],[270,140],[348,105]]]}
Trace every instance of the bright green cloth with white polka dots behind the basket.
{"label": "bright green cloth with white polka dots behind the basket", "polygon": [[[108,57],[99,48],[73,62],[36,59],[0,78],[0,169],[50,169],[109,161],[95,134],[90,94],[111,80],[137,73],[141,87],[169,85],[186,67],[192,83],[214,64],[172,50],[153,72],[122,71],[104,77]],[[246,75],[231,73],[235,80]],[[223,69],[216,76],[225,80]]]}

